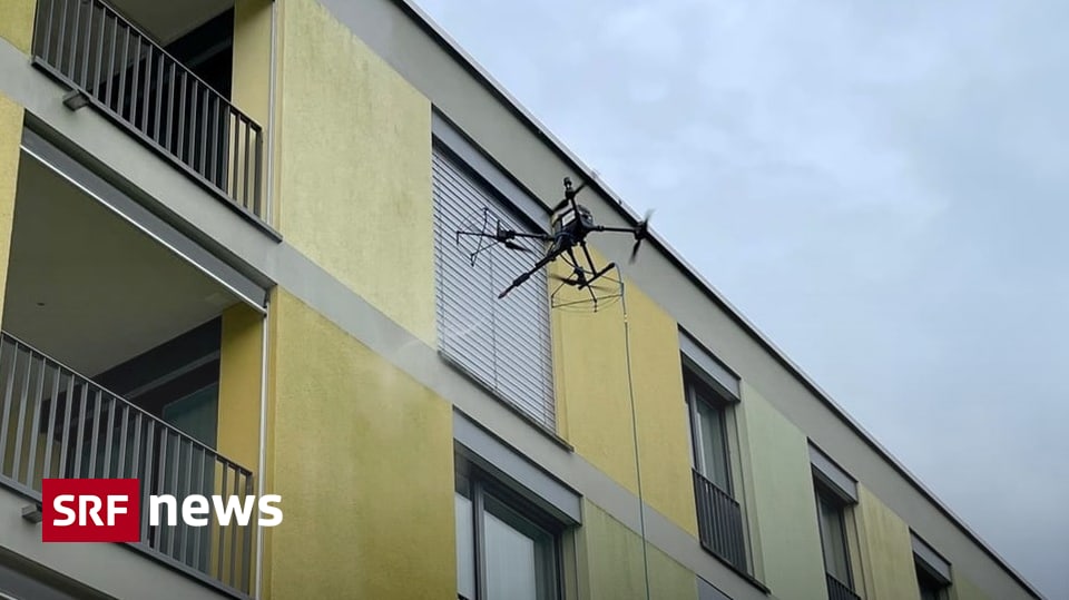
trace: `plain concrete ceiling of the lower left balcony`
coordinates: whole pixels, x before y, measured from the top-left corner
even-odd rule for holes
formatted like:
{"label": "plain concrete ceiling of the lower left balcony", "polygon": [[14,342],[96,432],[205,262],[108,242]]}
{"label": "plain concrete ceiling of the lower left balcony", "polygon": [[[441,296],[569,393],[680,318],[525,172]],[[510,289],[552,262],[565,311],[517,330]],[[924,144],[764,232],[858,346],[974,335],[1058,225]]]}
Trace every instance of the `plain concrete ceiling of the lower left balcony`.
{"label": "plain concrete ceiling of the lower left balcony", "polygon": [[94,376],[237,302],[185,259],[22,155],[4,331]]}

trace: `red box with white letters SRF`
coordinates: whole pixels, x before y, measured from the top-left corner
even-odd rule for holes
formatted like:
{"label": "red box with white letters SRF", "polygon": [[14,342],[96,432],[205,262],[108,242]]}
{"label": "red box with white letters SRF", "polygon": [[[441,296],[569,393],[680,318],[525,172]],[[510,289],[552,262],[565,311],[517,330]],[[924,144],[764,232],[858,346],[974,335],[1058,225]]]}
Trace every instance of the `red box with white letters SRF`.
{"label": "red box with white letters SRF", "polygon": [[136,479],[41,481],[42,542],[136,542],[141,485]]}

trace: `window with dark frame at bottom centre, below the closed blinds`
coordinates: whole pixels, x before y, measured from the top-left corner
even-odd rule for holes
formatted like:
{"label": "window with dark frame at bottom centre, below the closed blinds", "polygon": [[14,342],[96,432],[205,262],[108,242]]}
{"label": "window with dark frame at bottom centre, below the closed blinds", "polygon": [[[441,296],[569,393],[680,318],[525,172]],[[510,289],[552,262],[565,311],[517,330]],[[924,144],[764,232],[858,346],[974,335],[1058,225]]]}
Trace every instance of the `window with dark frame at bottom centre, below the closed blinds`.
{"label": "window with dark frame at bottom centre, below the closed blinds", "polygon": [[457,596],[557,600],[558,537],[522,501],[478,474],[457,475]]}

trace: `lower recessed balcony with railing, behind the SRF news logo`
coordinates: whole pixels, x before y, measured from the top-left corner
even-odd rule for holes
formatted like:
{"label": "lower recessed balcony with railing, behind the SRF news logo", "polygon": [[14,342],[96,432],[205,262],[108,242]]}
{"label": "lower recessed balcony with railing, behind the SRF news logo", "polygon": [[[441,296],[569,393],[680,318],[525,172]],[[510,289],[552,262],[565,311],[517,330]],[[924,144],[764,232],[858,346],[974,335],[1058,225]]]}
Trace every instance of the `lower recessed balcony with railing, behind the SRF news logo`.
{"label": "lower recessed balcony with railing, behind the SRF news logo", "polygon": [[[151,527],[144,508],[149,494],[257,493],[249,469],[256,455],[247,450],[256,446],[257,423],[244,419],[256,414],[262,374],[235,378],[225,368],[228,356],[258,363],[261,348],[242,351],[225,335],[228,315],[241,321],[254,308],[23,153],[2,309],[4,502],[39,501],[46,478],[139,479],[140,540],[99,550],[107,558],[95,564],[144,570],[115,589],[98,580],[97,589],[134,598],[188,597],[190,589],[247,598],[254,523]],[[42,550],[33,533],[6,535],[0,550],[84,580],[87,554]],[[137,588],[157,580],[171,587]]]}

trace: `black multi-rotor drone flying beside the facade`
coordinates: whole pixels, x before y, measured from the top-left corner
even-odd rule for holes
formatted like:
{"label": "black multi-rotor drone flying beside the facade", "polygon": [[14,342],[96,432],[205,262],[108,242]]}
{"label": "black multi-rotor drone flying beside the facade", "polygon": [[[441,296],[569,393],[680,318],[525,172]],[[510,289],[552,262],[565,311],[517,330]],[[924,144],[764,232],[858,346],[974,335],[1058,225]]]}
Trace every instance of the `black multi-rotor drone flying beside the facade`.
{"label": "black multi-rotor drone flying beside the facade", "polygon": [[[595,301],[595,303],[597,303],[597,297],[594,294],[594,283],[616,268],[616,264],[608,263],[601,268],[598,268],[597,265],[595,265],[594,257],[590,256],[590,250],[587,249],[587,236],[591,233],[611,232],[631,234],[635,236],[635,245],[631,247],[630,262],[635,262],[635,258],[638,256],[638,249],[643,245],[643,240],[649,236],[649,217],[651,213],[647,213],[645,218],[643,218],[643,220],[640,220],[634,227],[607,227],[605,225],[598,225],[595,223],[594,215],[590,213],[590,209],[576,201],[576,196],[586,186],[587,183],[585,181],[579,187],[572,187],[571,179],[565,177],[565,198],[560,200],[550,212],[550,214],[553,215],[551,222],[552,233],[530,234],[526,232],[517,232],[516,229],[502,228],[500,220],[498,220],[492,233],[487,232],[486,227],[483,227],[483,230],[481,232],[457,232],[458,244],[463,236],[480,238],[480,243],[482,238],[488,238],[493,240],[493,243],[500,244],[504,248],[514,252],[534,252],[517,244],[517,239],[537,239],[543,243],[545,250],[542,256],[534,263],[533,266],[531,266],[530,269],[517,276],[516,279],[512,281],[512,284],[498,295],[498,298],[506,297],[509,292],[512,292],[517,287],[523,285],[523,283],[527,282],[533,274],[538,273],[539,269],[557,260],[558,258],[561,258],[568,264],[568,266],[571,267],[571,276],[553,277],[561,284],[570,285],[577,289],[588,289],[591,294],[591,298]],[[577,248],[579,253],[581,253],[582,260],[585,262],[580,260],[580,258],[577,256]],[[479,249],[471,255],[472,265],[474,265],[475,255],[481,253],[483,249],[486,248],[480,245]]]}

